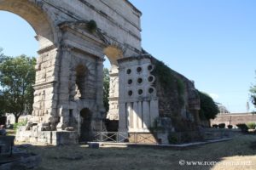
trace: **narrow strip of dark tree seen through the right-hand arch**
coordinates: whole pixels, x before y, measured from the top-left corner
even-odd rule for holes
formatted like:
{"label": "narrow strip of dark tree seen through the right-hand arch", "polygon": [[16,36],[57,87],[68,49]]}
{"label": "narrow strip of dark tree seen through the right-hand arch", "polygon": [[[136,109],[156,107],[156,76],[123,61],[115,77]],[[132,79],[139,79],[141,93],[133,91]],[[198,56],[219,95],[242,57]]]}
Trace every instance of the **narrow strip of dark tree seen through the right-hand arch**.
{"label": "narrow strip of dark tree seen through the right-hand arch", "polygon": [[108,112],[109,110],[109,104],[108,104],[108,97],[109,97],[109,82],[110,82],[110,77],[109,77],[109,71],[107,68],[104,68],[103,70],[103,103],[106,111]]}

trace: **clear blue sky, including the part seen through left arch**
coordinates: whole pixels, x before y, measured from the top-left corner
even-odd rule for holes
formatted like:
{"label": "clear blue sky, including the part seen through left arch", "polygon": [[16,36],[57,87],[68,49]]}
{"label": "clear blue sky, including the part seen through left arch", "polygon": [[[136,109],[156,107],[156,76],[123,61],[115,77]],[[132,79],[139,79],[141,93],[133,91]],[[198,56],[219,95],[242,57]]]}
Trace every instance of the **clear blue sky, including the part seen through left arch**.
{"label": "clear blue sky, including the part seen through left arch", "polygon": [[[143,48],[232,112],[245,112],[256,70],[256,1],[131,0],[143,12]],[[36,56],[26,21],[0,12],[0,47]],[[251,105],[253,110],[253,106]]]}

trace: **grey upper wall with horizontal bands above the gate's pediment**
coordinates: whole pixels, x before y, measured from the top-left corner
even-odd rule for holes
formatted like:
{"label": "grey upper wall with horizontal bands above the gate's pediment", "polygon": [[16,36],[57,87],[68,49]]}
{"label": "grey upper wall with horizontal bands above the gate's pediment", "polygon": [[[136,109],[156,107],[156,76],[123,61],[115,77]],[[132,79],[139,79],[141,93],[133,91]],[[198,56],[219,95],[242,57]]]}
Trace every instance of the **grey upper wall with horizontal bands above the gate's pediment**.
{"label": "grey upper wall with horizontal bands above the gate's pediment", "polygon": [[[102,34],[112,43],[126,48],[125,56],[141,50],[141,12],[126,0],[48,0],[49,6],[61,9],[63,21],[96,20]],[[61,15],[62,17],[62,15]],[[60,17],[59,17],[60,18]],[[61,22],[60,22],[61,21]]]}

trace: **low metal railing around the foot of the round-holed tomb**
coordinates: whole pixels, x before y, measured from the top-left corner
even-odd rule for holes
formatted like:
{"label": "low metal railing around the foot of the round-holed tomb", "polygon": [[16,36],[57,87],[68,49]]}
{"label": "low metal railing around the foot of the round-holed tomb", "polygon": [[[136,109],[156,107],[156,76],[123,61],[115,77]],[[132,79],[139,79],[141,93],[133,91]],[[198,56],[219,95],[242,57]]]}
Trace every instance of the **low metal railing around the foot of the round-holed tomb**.
{"label": "low metal railing around the foot of the round-holed tomb", "polygon": [[161,144],[167,140],[169,144],[184,144],[201,142],[210,139],[230,138],[228,130],[202,129],[190,132],[154,132],[154,133],[127,133],[127,132],[97,132],[96,142],[133,143],[133,144]]}

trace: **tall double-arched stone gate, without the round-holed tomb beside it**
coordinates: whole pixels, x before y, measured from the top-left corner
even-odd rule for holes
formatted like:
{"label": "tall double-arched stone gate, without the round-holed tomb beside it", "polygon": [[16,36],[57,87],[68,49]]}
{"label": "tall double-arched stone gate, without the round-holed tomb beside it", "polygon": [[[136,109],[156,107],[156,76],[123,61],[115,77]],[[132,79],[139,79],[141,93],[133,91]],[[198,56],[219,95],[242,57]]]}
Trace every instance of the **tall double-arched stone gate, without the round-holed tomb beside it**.
{"label": "tall double-arched stone gate, without the round-holed tomb beside it", "polygon": [[[104,55],[113,65],[113,83],[118,84],[117,59],[141,51],[137,8],[125,0],[1,0],[0,10],[18,14],[37,33],[32,130],[65,130],[70,117],[76,122],[83,108],[92,111],[92,129],[98,130],[98,120],[106,116],[102,103]],[[91,29],[90,21],[96,27]],[[112,91],[117,101],[118,85]],[[38,135],[30,135],[30,140],[40,142]]]}

